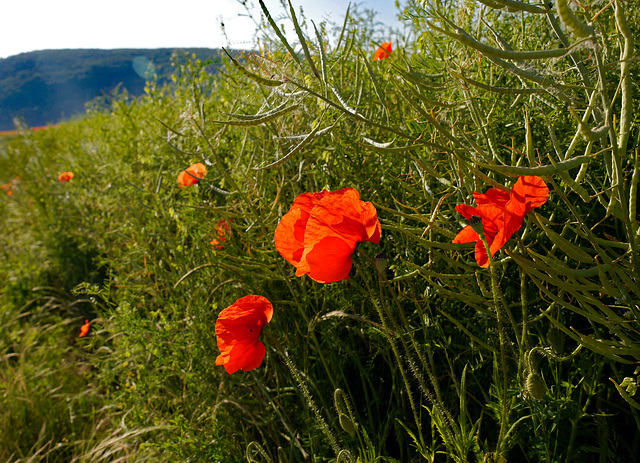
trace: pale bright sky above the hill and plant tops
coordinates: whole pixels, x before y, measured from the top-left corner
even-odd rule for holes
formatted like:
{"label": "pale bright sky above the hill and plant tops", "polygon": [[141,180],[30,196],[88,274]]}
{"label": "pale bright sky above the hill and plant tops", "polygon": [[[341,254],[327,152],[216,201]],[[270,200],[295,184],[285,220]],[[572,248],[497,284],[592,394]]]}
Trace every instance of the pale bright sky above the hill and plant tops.
{"label": "pale bright sky above the hill and plant tops", "polygon": [[[357,0],[353,0],[356,2]],[[280,0],[264,0],[284,17]],[[349,0],[291,0],[316,25],[342,23]],[[0,58],[64,48],[251,48],[255,23],[239,0],[2,0]],[[246,0],[257,21],[257,0]],[[400,27],[394,0],[360,0]],[[251,8],[253,7],[253,8]],[[226,36],[220,26],[225,25]]]}

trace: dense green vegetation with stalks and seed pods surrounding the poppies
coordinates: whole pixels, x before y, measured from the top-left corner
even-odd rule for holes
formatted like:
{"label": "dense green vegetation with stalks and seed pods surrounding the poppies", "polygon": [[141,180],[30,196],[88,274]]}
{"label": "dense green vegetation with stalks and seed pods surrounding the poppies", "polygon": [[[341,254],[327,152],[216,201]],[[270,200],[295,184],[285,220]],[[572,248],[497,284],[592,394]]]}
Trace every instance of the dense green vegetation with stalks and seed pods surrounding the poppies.
{"label": "dense green vegetation with stalks and seed pods surrounding the poppies", "polygon": [[[637,2],[410,0],[379,61],[370,16],[293,13],[297,43],[266,15],[218,77],[2,140],[0,459],[638,461]],[[521,176],[549,198],[481,268],[456,205]],[[343,187],[380,243],[294,276],[280,219]],[[249,294],[267,353],[230,375]]]}

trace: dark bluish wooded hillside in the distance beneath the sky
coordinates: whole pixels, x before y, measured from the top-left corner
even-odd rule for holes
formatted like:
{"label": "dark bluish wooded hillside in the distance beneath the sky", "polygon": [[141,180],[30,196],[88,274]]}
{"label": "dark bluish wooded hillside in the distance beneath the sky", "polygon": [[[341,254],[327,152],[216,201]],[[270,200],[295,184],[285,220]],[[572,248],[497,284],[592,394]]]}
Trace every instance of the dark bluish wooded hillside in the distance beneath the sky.
{"label": "dark bluish wooded hillside in the distance beneath the sky", "polygon": [[118,85],[140,95],[146,80],[171,74],[174,53],[215,63],[220,50],[43,50],[0,59],[0,131],[13,129],[15,117],[32,127],[59,122]]}

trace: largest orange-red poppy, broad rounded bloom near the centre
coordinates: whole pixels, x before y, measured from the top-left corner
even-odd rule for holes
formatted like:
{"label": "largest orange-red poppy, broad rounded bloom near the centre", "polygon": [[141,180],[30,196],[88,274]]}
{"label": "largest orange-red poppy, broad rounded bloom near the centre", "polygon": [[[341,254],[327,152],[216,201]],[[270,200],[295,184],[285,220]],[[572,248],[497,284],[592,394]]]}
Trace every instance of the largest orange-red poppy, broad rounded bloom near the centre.
{"label": "largest orange-red poppy, broad rounded bloom near the centre", "polygon": [[373,204],[360,201],[353,188],[303,193],[276,228],[280,255],[318,283],[349,278],[351,255],[360,241],[380,242]]}

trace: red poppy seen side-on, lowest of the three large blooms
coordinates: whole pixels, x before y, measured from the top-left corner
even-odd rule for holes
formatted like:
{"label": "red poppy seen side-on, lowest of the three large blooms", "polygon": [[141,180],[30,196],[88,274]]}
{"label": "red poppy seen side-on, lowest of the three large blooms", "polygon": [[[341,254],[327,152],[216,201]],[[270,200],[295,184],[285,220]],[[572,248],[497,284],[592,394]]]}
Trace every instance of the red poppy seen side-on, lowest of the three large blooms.
{"label": "red poppy seen side-on, lowest of the three large blooms", "polygon": [[229,374],[258,368],[267,351],[258,338],[272,316],[271,302],[255,295],[241,297],[220,312],[216,337],[221,353],[216,365],[224,365]]}

